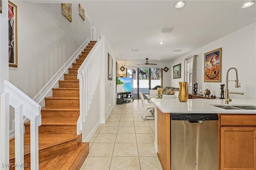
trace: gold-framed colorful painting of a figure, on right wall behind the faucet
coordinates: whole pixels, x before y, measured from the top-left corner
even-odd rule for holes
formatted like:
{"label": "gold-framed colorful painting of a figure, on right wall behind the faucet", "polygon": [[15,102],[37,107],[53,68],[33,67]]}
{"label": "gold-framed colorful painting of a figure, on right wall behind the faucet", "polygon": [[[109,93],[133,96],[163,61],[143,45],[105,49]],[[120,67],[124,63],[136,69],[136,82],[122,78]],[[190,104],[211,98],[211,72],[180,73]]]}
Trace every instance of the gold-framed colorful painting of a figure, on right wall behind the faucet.
{"label": "gold-framed colorful painting of a figure, on right wall behind the faucet", "polygon": [[221,82],[221,48],[204,53],[204,82]]}

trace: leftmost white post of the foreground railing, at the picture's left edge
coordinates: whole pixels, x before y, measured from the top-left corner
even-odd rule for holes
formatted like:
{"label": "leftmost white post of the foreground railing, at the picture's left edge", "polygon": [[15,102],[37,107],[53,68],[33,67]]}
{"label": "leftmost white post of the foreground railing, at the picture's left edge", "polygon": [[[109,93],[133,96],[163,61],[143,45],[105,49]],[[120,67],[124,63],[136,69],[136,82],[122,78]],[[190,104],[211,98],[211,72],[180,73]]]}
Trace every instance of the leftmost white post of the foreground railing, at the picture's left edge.
{"label": "leftmost white post of the foreground railing, at the picture's left edge", "polygon": [[1,170],[9,170],[9,124],[10,124],[10,94],[2,93],[1,94],[1,102],[0,102],[0,164]]}

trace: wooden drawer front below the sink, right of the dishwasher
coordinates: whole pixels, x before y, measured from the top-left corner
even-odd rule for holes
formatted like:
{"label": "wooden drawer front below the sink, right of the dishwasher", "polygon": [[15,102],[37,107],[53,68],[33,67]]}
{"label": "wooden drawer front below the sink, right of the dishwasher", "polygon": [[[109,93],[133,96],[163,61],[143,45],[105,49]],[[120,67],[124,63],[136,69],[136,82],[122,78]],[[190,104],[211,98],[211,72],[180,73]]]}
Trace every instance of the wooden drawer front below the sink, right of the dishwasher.
{"label": "wooden drawer front below the sink, right of the dishwasher", "polygon": [[220,115],[220,125],[256,126],[256,115]]}

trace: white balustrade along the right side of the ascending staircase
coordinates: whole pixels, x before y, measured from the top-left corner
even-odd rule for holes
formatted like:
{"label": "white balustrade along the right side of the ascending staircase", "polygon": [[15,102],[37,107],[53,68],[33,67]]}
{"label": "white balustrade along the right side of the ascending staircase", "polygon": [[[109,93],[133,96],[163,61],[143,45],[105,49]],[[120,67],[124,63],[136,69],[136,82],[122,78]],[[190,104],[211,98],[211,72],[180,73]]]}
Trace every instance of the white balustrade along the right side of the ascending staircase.
{"label": "white balustrade along the right side of the ascending staircase", "polygon": [[101,48],[102,42],[100,37],[77,71],[80,97],[80,115],[77,121],[77,134],[80,134],[82,123],[86,121],[93,95],[100,79]]}

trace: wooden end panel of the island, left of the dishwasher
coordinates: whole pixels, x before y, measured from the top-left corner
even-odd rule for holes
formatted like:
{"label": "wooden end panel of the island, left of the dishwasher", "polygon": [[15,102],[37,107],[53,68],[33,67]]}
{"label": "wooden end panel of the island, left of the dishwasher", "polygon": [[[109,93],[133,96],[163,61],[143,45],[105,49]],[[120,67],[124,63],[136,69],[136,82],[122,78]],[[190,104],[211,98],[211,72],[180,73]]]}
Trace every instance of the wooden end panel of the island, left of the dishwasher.
{"label": "wooden end panel of the island, left of the dishwasher", "polygon": [[157,155],[164,170],[170,170],[170,113],[157,109]]}

